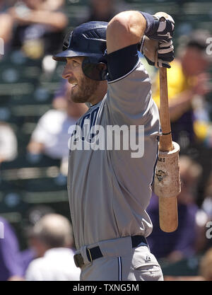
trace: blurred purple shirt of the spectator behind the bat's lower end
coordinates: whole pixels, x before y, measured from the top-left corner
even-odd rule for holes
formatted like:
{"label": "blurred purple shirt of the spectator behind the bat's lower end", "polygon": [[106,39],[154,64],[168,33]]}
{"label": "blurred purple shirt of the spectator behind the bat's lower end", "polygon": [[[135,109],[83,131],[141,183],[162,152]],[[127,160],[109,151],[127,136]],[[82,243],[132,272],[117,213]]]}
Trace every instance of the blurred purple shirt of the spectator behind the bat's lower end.
{"label": "blurred purple shirt of the spectator behind the bat's lower end", "polygon": [[165,233],[159,225],[158,197],[152,196],[148,214],[153,222],[153,233],[148,238],[148,244],[156,258],[179,260],[194,254],[196,213],[195,204],[178,204],[178,228],[172,233]]}

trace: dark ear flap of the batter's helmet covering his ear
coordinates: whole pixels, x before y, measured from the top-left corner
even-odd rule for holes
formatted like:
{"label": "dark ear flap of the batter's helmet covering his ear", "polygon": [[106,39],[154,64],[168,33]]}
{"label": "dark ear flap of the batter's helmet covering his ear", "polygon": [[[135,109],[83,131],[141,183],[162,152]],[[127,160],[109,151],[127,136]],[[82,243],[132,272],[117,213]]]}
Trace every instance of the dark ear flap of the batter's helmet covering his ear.
{"label": "dark ear flap of the batter's helmet covering his ear", "polygon": [[83,73],[92,80],[107,80],[107,64],[99,62],[96,57],[85,57],[82,69]]}

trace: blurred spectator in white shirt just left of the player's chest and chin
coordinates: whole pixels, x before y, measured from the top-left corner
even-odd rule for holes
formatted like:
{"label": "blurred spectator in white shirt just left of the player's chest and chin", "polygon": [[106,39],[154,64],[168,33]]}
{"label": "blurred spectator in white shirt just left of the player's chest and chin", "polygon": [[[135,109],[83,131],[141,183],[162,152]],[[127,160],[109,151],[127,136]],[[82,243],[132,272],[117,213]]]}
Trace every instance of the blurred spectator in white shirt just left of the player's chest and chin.
{"label": "blurred spectator in white shirt just left of the player's chest and chin", "polygon": [[[52,158],[61,158],[66,161],[69,156],[68,141],[71,130],[81,115],[88,108],[82,103],[73,103],[70,99],[71,84],[61,85],[62,91],[57,93],[55,100],[57,110],[48,110],[37,123],[37,127],[33,131],[28,151],[31,154],[46,154]],[[62,101],[62,103],[61,103]],[[71,127],[71,129],[70,129]]]}

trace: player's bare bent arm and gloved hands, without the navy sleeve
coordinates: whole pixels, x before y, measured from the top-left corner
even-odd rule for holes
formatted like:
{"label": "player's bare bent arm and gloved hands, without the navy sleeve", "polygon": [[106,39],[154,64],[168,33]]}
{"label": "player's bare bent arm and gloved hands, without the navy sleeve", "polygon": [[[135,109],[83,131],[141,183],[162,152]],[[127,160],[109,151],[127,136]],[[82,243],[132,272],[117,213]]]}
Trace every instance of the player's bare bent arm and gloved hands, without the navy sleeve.
{"label": "player's bare bent arm and gloved hands, without the navy sleeve", "polygon": [[142,11],[123,11],[108,23],[107,54],[140,44],[138,48],[148,64],[170,68],[169,63],[174,59],[174,28],[175,22],[167,13],[152,16]]}

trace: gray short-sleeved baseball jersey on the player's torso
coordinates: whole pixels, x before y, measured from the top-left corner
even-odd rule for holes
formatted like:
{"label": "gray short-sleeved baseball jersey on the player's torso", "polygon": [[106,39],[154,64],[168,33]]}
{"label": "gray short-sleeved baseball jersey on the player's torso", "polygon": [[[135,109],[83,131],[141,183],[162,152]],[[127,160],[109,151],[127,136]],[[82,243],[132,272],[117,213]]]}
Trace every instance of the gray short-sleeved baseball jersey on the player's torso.
{"label": "gray short-sleeved baseball jersey on the player's torso", "polygon": [[[105,98],[91,106],[77,125],[85,129],[89,122],[90,128],[101,126],[104,130],[114,125],[125,125],[128,130],[135,126],[136,140],[143,142],[143,156],[136,158],[131,149],[110,149],[107,144],[105,149],[71,148],[68,192],[77,249],[112,238],[148,236],[152,231],[146,207],[158,156],[160,122],[151,81],[139,61],[129,74],[107,86]],[[139,126],[144,126],[144,134]],[[121,139],[126,142],[131,134],[129,139],[125,135],[123,132]],[[106,142],[107,132],[104,137]],[[71,146],[74,141],[72,136]]]}

